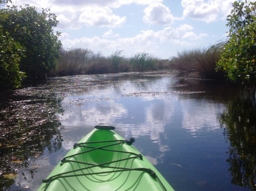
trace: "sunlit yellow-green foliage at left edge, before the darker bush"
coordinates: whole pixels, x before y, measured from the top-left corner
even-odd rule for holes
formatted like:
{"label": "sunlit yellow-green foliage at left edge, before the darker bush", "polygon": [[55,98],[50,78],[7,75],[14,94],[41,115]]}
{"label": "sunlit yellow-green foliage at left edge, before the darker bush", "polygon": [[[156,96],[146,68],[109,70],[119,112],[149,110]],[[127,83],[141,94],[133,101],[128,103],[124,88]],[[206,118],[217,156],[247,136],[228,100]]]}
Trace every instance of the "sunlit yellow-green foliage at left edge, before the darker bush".
{"label": "sunlit yellow-green foliage at left edge, before the darker bush", "polygon": [[18,88],[25,73],[19,70],[23,55],[21,45],[0,26],[0,90]]}

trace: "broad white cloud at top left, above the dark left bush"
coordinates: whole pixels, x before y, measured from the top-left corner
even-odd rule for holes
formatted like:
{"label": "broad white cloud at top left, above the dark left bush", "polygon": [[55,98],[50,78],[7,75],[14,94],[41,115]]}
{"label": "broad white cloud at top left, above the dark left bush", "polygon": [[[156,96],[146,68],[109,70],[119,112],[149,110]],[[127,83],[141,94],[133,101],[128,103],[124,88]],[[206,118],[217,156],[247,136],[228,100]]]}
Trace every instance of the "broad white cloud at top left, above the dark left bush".
{"label": "broad white cloud at top left, above the dark left bush", "polygon": [[[19,3],[18,3],[19,2]],[[119,27],[121,26],[126,17],[120,17],[113,13],[110,7],[115,7],[116,3],[121,6],[122,1],[107,1],[107,0],[89,0],[89,1],[66,1],[56,0],[48,2],[34,0],[27,1],[27,4],[34,5],[36,7],[50,8],[51,12],[58,15],[59,28],[72,28],[79,29],[82,24],[87,26],[97,27]],[[18,4],[24,4],[20,0]],[[108,6],[111,5],[111,6]],[[119,6],[118,5],[118,6]]]}

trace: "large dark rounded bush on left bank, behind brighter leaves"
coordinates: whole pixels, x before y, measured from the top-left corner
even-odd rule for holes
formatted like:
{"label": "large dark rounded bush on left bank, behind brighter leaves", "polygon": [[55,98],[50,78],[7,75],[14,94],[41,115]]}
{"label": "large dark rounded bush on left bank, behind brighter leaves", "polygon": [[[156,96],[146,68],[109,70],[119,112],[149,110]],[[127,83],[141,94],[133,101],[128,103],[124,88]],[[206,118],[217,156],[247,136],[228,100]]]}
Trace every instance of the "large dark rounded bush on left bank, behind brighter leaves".
{"label": "large dark rounded bush on left bank, behind brighter leaves", "polygon": [[30,82],[44,81],[55,68],[61,48],[59,33],[55,34],[52,29],[58,24],[56,15],[47,9],[39,13],[36,7],[26,5],[1,9],[0,17],[4,33],[11,34],[14,41],[25,48],[26,57],[20,60],[20,70],[26,73]]}

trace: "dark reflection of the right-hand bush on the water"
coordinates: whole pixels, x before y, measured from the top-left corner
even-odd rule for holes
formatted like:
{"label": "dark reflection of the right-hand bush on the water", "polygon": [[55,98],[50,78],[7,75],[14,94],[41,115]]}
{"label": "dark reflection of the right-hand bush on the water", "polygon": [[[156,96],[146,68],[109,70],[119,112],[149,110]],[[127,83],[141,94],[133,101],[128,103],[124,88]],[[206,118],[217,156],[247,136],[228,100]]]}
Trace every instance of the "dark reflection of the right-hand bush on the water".
{"label": "dark reflection of the right-hand bush on the water", "polygon": [[224,137],[230,142],[229,171],[232,184],[256,190],[256,108],[245,99],[232,100],[220,117]]}

